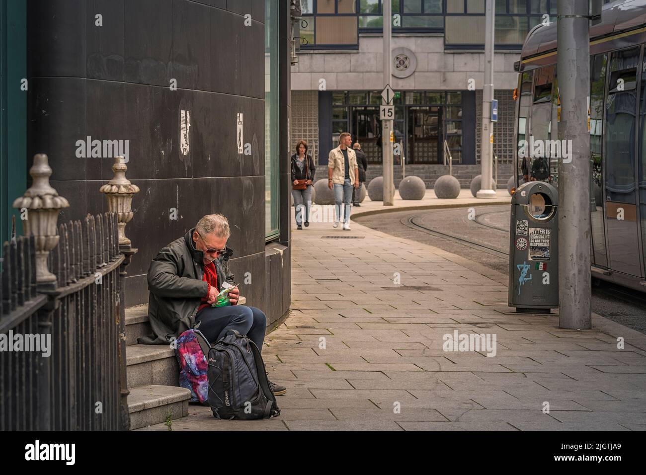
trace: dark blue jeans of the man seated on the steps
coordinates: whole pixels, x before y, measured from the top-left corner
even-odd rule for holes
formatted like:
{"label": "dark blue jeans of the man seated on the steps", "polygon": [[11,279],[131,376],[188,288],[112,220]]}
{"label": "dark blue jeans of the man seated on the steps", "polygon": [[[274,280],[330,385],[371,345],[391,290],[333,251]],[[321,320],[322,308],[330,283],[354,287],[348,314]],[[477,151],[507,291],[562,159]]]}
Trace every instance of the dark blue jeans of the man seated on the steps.
{"label": "dark blue jeans of the man seated on the steps", "polygon": [[240,335],[247,335],[262,353],[267,317],[258,308],[246,305],[205,307],[195,315],[195,321],[201,322],[198,330],[211,344],[224,337],[228,330],[238,330]]}

